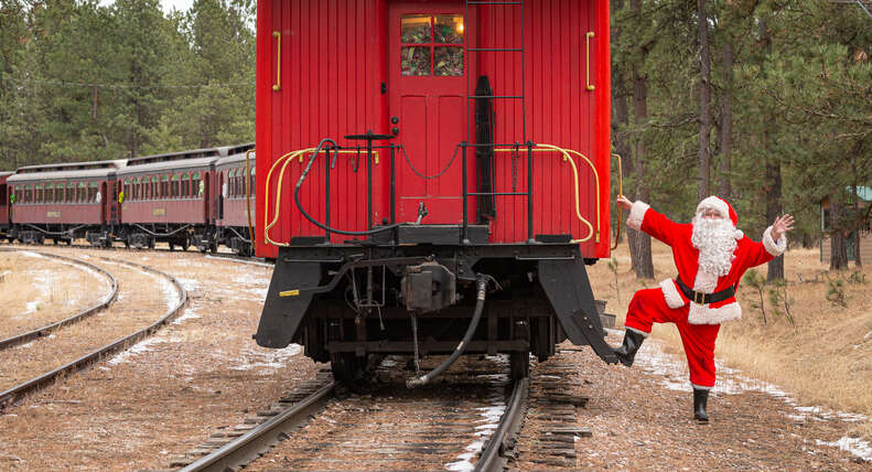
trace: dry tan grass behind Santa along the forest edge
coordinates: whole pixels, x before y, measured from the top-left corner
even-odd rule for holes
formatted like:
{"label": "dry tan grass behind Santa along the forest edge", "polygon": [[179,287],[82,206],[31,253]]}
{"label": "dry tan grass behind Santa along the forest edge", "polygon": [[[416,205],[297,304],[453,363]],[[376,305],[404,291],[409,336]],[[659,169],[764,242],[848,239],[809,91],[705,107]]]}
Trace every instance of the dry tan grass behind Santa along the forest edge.
{"label": "dry tan grass behind Santa along the forest edge", "polygon": [[[616,313],[623,325],[633,292],[654,287],[674,277],[675,265],[669,248],[657,242],[653,249],[655,280],[637,280],[631,269],[626,244],[614,251],[617,261],[621,299],[617,300],[614,273],[606,264],[591,268],[598,298],[606,299],[609,312]],[[848,307],[833,305],[826,299],[828,279],[847,280],[853,270],[828,272],[817,249],[792,249],[785,255],[785,279],[790,311],[796,325],[785,317],[775,317],[766,297],[768,323],[760,310],[756,291],[743,283],[739,300],[743,317],[725,323],[718,339],[715,355],[745,375],[773,383],[789,391],[800,404],[820,405],[833,410],[872,412],[872,269],[862,273],[869,283],[844,283]],[[766,266],[756,268],[765,277]],[[799,277],[806,282],[799,282]],[[814,280],[817,277],[817,281]],[[667,341],[669,351],[683,357],[678,331],[672,324],[655,325],[654,335]],[[872,425],[858,423],[855,433],[872,438]]]}

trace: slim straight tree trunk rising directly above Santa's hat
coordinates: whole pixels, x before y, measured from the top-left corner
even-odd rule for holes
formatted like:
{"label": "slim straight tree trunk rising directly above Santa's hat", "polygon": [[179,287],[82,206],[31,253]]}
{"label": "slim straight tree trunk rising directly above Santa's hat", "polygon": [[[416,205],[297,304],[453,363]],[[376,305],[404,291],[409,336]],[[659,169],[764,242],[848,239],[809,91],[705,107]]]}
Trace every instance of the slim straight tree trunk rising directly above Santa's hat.
{"label": "slim straight tree trunk rising directly above Santa's hat", "polygon": [[711,57],[706,0],[697,0],[699,18],[699,200],[711,194]]}

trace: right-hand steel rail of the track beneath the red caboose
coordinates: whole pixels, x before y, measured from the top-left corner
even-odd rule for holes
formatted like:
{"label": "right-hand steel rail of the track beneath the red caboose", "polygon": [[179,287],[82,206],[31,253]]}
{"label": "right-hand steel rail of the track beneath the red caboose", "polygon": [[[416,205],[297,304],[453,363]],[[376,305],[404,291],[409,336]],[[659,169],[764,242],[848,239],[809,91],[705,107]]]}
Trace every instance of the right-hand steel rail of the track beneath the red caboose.
{"label": "right-hand steel rail of the track beneath the red caboose", "polygon": [[529,389],[529,378],[515,380],[508,408],[503,414],[503,417],[499,418],[499,426],[491,435],[491,439],[487,440],[487,447],[482,451],[482,455],[475,463],[473,471],[502,472],[505,470],[508,460],[504,454],[515,444],[516,436],[520,430],[520,423],[524,421],[526,414]]}

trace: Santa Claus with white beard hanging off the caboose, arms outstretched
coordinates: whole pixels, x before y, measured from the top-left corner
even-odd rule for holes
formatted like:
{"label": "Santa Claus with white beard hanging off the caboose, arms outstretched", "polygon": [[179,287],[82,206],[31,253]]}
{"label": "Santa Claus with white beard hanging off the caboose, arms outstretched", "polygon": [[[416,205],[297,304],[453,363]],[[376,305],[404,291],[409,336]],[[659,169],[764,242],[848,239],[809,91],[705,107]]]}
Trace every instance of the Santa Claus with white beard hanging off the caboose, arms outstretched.
{"label": "Santa Claus with white beard hanging off the caboose, arms outstretched", "polygon": [[709,421],[706,405],[714,386],[714,342],[721,323],[742,318],[735,291],[751,267],[781,256],[787,247],[785,234],[793,229],[790,215],[775,219],[756,243],[736,229],[738,216],[722,199],[709,196],[699,203],[690,224],[667,218],[643,202],[618,196],[629,211],[627,226],[643,230],[672,248],[678,277],[657,289],[639,290],[627,309],[624,342],[615,350],[622,364],[633,365],[642,342],[654,323],[675,323],[685,345],[690,384],[693,386],[693,418]]}

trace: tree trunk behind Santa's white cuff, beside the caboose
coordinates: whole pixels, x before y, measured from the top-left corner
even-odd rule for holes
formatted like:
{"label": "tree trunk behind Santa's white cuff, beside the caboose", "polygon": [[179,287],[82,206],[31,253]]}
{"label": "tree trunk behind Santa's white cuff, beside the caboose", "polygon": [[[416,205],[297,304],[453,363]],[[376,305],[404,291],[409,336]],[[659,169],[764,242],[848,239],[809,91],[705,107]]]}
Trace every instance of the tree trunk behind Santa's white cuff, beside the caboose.
{"label": "tree trunk behind Santa's white cuff, beside the caboose", "polygon": [[[631,0],[629,7],[638,14],[642,15],[642,0]],[[633,63],[633,119],[636,127],[648,120],[648,84],[647,78],[642,74],[642,67],[645,63],[646,51],[639,51],[638,58]],[[645,184],[645,154],[647,147],[645,140],[639,133],[636,136],[633,154],[634,163],[633,169],[636,174],[636,183],[638,184],[635,195],[636,199],[645,202],[649,201],[650,191]],[[652,260],[652,244],[650,236],[643,232],[637,232],[627,228],[627,240],[629,242],[629,256],[633,261],[633,268],[636,270],[637,279],[652,279],[654,278],[654,261]]]}

